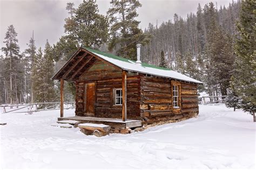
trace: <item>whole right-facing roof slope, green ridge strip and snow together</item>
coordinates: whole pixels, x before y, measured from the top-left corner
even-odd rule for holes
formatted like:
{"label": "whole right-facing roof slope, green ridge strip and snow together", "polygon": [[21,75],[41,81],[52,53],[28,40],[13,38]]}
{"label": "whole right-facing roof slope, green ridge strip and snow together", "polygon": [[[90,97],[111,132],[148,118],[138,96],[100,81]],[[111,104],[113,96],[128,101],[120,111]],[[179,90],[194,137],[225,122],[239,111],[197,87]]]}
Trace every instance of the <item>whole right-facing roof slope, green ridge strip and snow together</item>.
{"label": "whole right-facing roof slope, green ridge strip and snow together", "polygon": [[184,74],[174,72],[173,70],[168,68],[157,67],[157,66],[149,65],[147,63],[138,64],[135,61],[121,58],[119,56],[112,55],[109,53],[100,52],[95,49],[91,49],[91,48],[84,48],[84,49],[112,63],[113,65],[116,65],[117,67],[120,67],[127,71],[151,74],[151,75],[156,75],[161,77],[169,77],[176,80],[183,80],[183,81],[203,84],[203,82],[201,81],[192,79],[191,77],[188,77]]}

